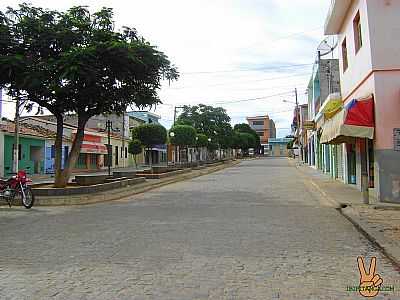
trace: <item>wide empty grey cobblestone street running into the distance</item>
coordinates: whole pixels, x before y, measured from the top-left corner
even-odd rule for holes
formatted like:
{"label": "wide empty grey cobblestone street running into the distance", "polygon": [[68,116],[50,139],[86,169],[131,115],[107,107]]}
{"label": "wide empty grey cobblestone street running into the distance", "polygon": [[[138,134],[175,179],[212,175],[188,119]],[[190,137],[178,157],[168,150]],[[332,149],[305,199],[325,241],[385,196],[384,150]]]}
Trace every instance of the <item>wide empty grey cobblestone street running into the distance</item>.
{"label": "wide empty grey cobblestone street running into the distance", "polygon": [[362,299],[357,256],[399,270],[287,159],[119,201],[0,206],[1,299]]}

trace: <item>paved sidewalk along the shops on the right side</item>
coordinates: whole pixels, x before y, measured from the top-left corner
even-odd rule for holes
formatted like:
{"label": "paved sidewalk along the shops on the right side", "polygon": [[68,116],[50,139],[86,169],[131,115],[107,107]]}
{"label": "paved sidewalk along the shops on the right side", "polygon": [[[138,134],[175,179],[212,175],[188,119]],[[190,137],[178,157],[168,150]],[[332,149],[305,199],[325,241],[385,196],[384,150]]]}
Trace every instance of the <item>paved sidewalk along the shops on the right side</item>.
{"label": "paved sidewalk along the shops on the right side", "polygon": [[400,266],[400,205],[363,204],[355,187],[332,179],[307,165],[296,164],[302,175],[397,266]]}

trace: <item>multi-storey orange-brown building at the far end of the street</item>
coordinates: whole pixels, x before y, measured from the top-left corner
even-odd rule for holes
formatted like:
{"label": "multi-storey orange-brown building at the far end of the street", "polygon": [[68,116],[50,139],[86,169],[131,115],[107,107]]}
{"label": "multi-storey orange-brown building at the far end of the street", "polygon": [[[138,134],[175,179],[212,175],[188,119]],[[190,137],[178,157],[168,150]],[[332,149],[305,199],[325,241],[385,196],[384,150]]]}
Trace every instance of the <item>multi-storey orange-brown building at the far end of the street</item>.
{"label": "multi-storey orange-brown building at the far end of the street", "polygon": [[269,116],[247,117],[247,123],[260,137],[263,153],[270,151],[269,139],[276,138],[275,122]]}

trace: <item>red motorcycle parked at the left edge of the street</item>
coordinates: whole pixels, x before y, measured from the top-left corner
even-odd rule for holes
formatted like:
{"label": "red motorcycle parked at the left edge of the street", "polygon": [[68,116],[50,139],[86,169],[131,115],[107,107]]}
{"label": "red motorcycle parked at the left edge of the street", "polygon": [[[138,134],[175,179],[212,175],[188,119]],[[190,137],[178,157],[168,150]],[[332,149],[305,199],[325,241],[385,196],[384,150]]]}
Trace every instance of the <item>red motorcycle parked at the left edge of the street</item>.
{"label": "red motorcycle parked at the left edge of the street", "polygon": [[32,182],[32,180],[27,178],[26,172],[22,170],[9,179],[0,179],[0,198],[5,199],[11,207],[14,199],[21,197],[22,205],[25,208],[31,208],[35,196],[28,185],[29,182]]}

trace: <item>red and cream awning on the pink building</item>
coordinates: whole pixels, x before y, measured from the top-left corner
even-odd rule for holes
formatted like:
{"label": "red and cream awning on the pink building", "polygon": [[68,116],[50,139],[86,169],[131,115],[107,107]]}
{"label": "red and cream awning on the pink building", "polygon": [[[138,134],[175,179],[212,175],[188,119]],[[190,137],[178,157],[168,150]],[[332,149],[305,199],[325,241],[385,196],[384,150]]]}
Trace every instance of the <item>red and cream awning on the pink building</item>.
{"label": "red and cream awning on the pink building", "polygon": [[322,127],[322,144],[352,143],[374,138],[374,99],[352,100]]}

